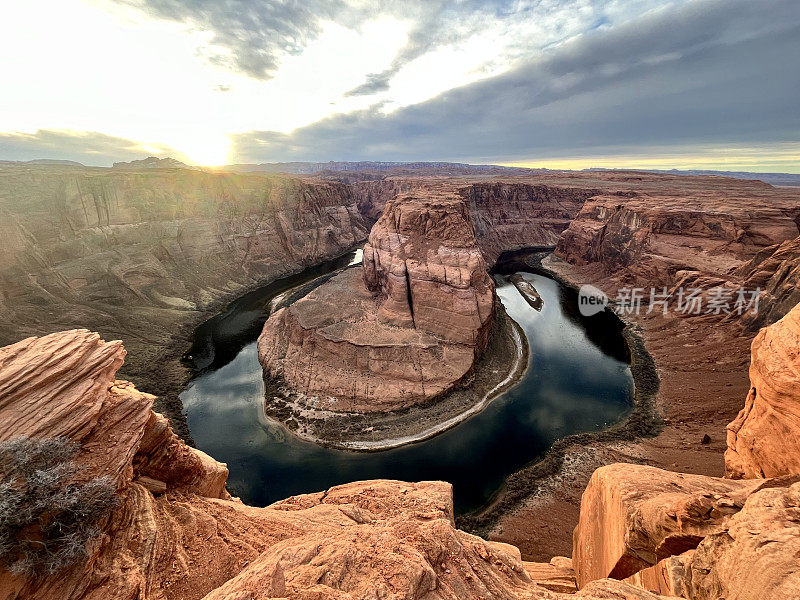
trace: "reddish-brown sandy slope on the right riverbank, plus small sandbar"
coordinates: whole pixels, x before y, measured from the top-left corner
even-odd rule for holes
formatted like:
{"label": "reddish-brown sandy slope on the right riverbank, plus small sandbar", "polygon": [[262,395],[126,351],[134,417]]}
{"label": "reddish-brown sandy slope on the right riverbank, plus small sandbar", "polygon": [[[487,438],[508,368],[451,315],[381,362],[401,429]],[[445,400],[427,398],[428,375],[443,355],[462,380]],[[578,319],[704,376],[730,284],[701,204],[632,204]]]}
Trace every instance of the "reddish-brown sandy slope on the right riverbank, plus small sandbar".
{"label": "reddish-brown sandy slope on the right riverbank, plus small sandbar", "polygon": [[[565,263],[551,267],[567,280],[590,280]],[[558,473],[538,482],[528,498],[483,531],[492,540],[519,547],[526,560],[571,555],[581,494],[599,466],[638,462],[671,471],[723,474],[725,428],[744,405],[755,333],[736,324],[655,313],[629,321],[655,360],[660,377],[655,403],[663,415],[663,431],[656,437],[571,449]],[[711,438],[706,444],[705,435]]]}

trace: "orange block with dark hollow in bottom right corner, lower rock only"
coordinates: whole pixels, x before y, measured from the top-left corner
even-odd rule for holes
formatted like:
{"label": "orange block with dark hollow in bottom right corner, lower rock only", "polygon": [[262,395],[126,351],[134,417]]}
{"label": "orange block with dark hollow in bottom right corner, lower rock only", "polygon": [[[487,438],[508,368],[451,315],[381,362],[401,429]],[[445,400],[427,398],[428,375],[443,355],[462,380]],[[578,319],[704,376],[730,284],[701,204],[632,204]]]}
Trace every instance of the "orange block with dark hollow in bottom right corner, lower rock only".
{"label": "orange block with dark hollow in bottom right corner, lower rock only", "polygon": [[602,467],[575,529],[578,586],[613,577],[692,600],[797,597],[799,480]]}

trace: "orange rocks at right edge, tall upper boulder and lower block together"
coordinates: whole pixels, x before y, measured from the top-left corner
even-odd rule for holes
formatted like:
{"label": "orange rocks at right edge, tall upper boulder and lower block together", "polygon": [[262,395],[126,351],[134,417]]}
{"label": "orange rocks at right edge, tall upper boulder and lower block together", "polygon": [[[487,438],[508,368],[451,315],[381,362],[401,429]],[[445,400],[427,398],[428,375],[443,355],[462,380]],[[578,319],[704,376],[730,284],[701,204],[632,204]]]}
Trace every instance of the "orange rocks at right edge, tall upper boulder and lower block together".
{"label": "orange rocks at right edge, tall upper boulder and lower block together", "polygon": [[579,587],[613,577],[696,600],[798,597],[800,305],[752,344],[726,479],[648,466],[594,472],[574,532]]}

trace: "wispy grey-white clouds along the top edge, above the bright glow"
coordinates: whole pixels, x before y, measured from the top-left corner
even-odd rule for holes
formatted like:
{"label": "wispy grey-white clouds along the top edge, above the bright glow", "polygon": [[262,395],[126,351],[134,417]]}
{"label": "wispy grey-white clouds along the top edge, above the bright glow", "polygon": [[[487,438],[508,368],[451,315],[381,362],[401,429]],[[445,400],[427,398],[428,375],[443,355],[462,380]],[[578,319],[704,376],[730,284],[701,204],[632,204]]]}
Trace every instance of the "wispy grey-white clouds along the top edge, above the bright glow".
{"label": "wispy grey-white clouds along the top edge, above the bright glow", "polygon": [[[680,4],[686,0],[671,0]],[[326,23],[360,29],[370,20],[393,17],[411,24],[406,44],[379,73],[349,95],[389,89],[400,70],[438,48],[469,44],[494,33],[486,60],[513,60],[659,4],[658,0],[116,0],[151,17],[211,33],[198,52],[210,63],[256,79],[269,79],[282,57],[300,54]],[[491,30],[491,31],[489,31]]]}

